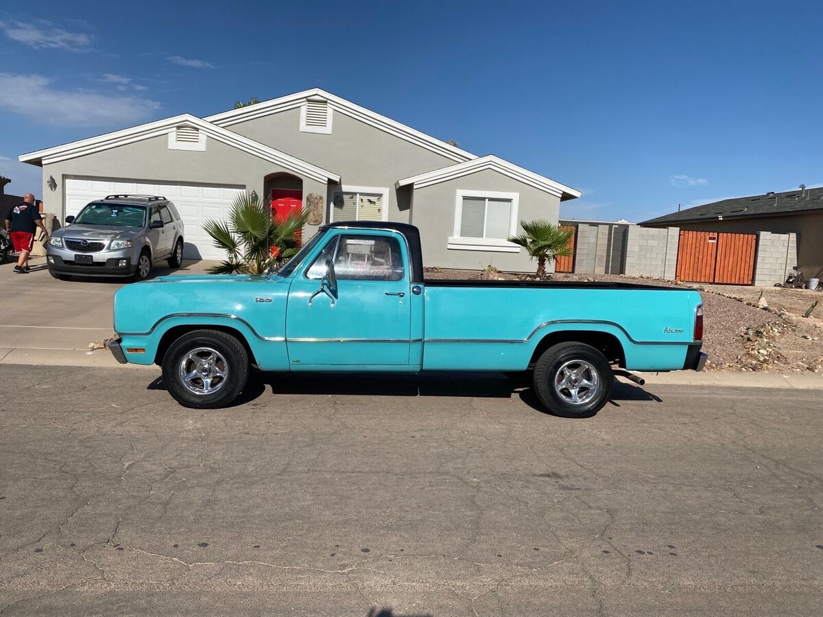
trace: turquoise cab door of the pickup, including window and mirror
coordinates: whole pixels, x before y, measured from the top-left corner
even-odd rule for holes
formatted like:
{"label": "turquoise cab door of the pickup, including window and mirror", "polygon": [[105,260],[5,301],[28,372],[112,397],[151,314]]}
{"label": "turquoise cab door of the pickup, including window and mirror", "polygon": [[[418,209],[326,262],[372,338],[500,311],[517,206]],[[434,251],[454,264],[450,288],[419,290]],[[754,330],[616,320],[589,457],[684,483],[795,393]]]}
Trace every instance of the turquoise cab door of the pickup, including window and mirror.
{"label": "turquoise cab door of the pickup, including window and mirror", "polygon": [[[337,291],[321,288],[326,260]],[[342,233],[295,272],[286,308],[291,369],[364,369],[409,364],[410,272],[396,235]]]}

